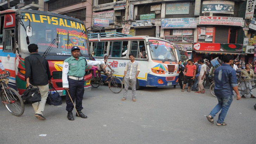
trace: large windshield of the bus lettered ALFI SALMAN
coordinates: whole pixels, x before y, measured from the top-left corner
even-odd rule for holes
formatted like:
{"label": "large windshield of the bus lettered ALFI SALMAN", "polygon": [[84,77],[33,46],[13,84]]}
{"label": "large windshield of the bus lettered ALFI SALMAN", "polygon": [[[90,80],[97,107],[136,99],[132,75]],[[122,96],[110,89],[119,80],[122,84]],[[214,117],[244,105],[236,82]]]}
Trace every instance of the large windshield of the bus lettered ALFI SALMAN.
{"label": "large windshield of the bus lettered ALFI SALMAN", "polygon": [[[71,55],[71,48],[78,46],[83,55],[89,55],[87,34],[84,24],[76,21],[43,14],[22,13],[26,16],[20,22],[20,48],[28,52],[29,44],[38,45],[38,53],[44,54],[49,48],[49,55]],[[26,40],[26,28],[31,21],[32,36],[29,44]],[[53,44],[51,44],[53,43]]]}

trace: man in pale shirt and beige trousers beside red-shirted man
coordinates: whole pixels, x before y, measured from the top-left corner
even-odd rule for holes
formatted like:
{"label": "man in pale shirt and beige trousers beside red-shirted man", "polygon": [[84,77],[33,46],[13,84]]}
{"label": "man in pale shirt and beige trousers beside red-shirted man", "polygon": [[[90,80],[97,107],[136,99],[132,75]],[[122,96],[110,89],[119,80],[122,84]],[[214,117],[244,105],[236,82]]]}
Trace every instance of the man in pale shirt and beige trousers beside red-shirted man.
{"label": "man in pale shirt and beige trousers beside red-shirted man", "polygon": [[199,63],[201,64],[201,70],[198,78],[198,91],[196,93],[205,93],[203,82],[206,74],[206,64],[204,64],[204,60],[202,59],[199,60]]}

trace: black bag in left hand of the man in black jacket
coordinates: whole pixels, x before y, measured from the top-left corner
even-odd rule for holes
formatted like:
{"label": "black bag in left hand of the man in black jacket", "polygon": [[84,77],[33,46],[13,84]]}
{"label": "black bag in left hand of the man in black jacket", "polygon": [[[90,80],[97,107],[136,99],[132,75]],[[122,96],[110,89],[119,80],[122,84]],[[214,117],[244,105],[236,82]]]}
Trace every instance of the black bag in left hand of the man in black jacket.
{"label": "black bag in left hand of the man in black jacket", "polygon": [[38,88],[29,85],[21,95],[24,104],[33,104],[41,101],[41,94]]}

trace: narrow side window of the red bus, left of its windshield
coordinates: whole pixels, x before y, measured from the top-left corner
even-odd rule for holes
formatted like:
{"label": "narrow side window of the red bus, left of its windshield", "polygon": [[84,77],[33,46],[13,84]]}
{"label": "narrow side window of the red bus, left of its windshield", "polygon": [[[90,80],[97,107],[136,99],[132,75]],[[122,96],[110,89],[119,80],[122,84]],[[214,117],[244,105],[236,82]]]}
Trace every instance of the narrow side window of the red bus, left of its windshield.
{"label": "narrow side window of the red bus, left of its windshield", "polygon": [[5,30],[5,39],[4,39],[4,46],[3,51],[4,52],[11,52],[12,51],[12,45],[14,42],[14,30]]}

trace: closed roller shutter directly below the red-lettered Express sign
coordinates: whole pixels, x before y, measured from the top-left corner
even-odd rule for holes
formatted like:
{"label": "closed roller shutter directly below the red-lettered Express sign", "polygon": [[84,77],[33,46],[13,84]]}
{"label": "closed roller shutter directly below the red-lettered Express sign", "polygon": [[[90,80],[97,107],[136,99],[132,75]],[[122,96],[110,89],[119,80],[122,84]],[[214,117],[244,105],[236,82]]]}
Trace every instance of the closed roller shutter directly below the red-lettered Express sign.
{"label": "closed roller shutter directly below the red-lettered Express sign", "polygon": [[215,27],[215,43],[228,43],[229,27]]}

